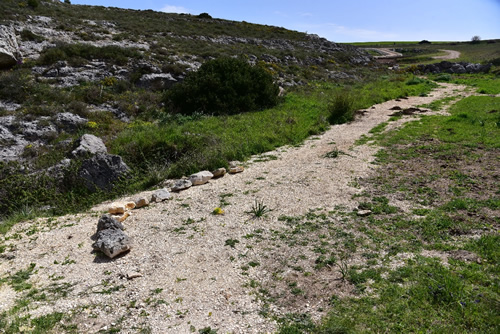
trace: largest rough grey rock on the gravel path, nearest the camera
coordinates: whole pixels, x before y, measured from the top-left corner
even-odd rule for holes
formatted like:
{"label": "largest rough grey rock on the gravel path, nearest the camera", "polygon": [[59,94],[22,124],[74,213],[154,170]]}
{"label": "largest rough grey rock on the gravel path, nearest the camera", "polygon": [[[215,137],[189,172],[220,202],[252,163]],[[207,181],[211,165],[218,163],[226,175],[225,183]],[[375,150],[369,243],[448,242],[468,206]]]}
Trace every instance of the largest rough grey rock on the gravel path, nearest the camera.
{"label": "largest rough grey rock on the gravel path, nearest the camera", "polygon": [[97,223],[96,241],[92,244],[92,248],[112,259],[130,250],[132,242],[123,232],[121,222],[110,215],[103,215]]}

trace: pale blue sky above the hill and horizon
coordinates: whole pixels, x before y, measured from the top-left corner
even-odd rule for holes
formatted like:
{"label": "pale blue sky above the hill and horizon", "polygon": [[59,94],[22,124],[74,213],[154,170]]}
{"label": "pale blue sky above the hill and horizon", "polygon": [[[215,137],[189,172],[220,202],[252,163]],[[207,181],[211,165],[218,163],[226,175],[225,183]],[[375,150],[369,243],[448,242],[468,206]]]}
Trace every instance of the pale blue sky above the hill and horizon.
{"label": "pale blue sky above the hill and horizon", "polygon": [[500,0],[72,0],[200,14],[318,34],[335,42],[500,38]]}

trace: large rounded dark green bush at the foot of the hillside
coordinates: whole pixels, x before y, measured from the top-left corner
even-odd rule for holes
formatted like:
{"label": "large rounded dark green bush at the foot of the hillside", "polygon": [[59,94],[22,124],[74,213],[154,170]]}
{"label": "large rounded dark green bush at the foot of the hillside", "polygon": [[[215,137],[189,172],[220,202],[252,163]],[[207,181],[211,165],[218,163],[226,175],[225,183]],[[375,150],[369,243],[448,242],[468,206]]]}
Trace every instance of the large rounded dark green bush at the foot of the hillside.
{"label": "large rounded dark green bush at the foot of the hillside", "polygon": [[222,57],[203,64],[165,95],[169,111],[230,115],[272,107],[278,103],[272,76],[246,61]]}

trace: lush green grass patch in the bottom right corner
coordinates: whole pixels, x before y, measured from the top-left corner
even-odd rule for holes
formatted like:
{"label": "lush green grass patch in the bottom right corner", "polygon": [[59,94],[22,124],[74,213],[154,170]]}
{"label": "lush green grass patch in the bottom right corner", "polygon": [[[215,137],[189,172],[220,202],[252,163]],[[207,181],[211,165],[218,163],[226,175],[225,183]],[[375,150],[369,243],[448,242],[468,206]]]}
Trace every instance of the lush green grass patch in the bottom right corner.
{"label": "lush green grass patch in the bottom right corner", "polygon": [[426,258],[407,261],[380,283],[378,296],[337,302],[311,332],[495,333],[498,294],[488,288],[490,277],[474,274],[478,269],[459,263],[447,268]]}

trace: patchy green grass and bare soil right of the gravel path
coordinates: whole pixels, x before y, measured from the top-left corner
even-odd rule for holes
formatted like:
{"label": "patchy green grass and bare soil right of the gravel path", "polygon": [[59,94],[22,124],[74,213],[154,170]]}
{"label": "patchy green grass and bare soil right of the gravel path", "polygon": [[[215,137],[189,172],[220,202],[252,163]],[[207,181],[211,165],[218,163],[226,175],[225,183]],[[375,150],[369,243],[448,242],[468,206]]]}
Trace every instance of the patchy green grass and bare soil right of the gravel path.
{"label": "patchy green grass and bare soil right of the gravel path", "polygon": [[[287,315],[280,333],[497,331],[499,107],[498,98],[469,97],[451,116],[423,117],[378,136],[380,169],[361,181],[359,196],[360,210],[371,215],[330,213],[329,220],[344,217],[345,233],[322,242],[344,246],[323,246],[334,255],[316,260],[340,272],[353,295],[329,290],[322,321]],[[395,206],[401,201],[408,207]]]}

